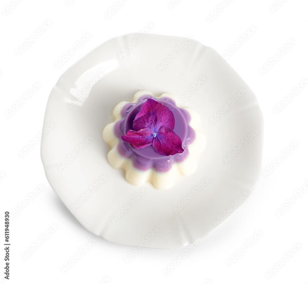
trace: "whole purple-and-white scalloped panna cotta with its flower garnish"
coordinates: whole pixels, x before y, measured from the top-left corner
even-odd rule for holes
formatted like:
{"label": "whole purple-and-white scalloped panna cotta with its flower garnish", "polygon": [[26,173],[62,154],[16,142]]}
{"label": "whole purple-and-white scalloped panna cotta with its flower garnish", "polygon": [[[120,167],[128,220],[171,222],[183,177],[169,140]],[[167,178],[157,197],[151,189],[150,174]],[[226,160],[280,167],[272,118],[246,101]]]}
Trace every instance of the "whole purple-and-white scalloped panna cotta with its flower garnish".
{"label": "whole purple-and-white scalloped panna cotta with its flower garnish", "polygon": [[124,169],[129,183],[168,189],[177,176],[196,170],[205,148],[200,117],[192,108],[181,108],[177,99],[170,93],[154,97],[139,91],[132,102],[115,107],[115,122],[104,128],[103,140],[111,146],[109,164]]}

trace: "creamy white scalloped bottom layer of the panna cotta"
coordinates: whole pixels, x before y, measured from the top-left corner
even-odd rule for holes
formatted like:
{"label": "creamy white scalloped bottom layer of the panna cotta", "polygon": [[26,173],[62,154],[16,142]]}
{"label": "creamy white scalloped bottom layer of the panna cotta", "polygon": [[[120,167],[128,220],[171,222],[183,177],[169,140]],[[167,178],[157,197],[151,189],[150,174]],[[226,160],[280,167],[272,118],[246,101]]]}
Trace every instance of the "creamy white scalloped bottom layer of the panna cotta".
{"label": "creamy white scalloped bottom layer of the panna cotta", "polygon": [[[129,103],[136,103],[140,97],[145,95],[153,96],[153,94],[149,91],[139,91],[134,95],[131,102],[122,101],[115,107],[113,111],[115,122],[108,124],[103,130],[103,140],[111,146],[111,150],[108,152],[107,159],[113,168],[125,170],[125,178],[132,185],[140,186],[145,182],[150,182],[156,189],[169,189],[174,185],[174,182],[179,175],[189,176],[195,172],[197,168],[198,157],[205,148],[205,135],[200,132],[199,114],[192,108],[184,108],[189,113],[191,118],[189,125],[195,131],[195,140],[193,143],[188,145],[189,154],[186,159],[180,163],[174,162],[168,172],[156,172],[152,168],[146,171],[135,168],[132,165],[132,160],[130,158],[124,158],[118,152],[117,145],[119,144],[120,139],[115,136],[114,128],[115,123],[122,119],[121,110],[124,105]],[[160,97],[156,98],[160,99],[162,97],[168,97],[172,99],[176,103],[176,106],[180,107],[179,103],[177,102],[178,98],[175,95],[164,93]]]}

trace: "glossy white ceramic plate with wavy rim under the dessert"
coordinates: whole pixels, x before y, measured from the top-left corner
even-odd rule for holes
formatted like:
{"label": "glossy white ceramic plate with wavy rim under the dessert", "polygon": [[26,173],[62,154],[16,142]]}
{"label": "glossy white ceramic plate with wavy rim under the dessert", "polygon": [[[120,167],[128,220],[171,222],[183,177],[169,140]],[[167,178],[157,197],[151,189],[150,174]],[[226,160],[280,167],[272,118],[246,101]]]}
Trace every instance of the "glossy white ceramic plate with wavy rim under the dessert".
{"label": "glossy white ceramic plate with wavy rim under the dessert", "polygon": [[[207,145],[198,168],[168,190],[132,186],[107,162],[102,130],[139,89],[175,94],[201,116]],[[85,228],[113,243],[172,249],[203,239],[248,199],[261,170],[255,95],[216,51],[182,37],[127,34],[103,43],[59,78],[48,124],[55,126],[41,157],[51,187]]]}

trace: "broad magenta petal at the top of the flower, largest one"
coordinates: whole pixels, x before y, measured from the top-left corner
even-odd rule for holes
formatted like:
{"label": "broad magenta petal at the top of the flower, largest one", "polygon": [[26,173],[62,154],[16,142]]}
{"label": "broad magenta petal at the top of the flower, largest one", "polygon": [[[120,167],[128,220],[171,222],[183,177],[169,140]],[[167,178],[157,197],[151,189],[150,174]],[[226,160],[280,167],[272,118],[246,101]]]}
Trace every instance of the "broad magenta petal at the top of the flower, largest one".
{"label": "broad magenta petal at the top of the flower, largest one", "polygon": [[157,132],[162,126],[174,129],[174,115],[165,105],[148,98],[133,121],[133,129],[139,131],[150,128],[153,132]]}

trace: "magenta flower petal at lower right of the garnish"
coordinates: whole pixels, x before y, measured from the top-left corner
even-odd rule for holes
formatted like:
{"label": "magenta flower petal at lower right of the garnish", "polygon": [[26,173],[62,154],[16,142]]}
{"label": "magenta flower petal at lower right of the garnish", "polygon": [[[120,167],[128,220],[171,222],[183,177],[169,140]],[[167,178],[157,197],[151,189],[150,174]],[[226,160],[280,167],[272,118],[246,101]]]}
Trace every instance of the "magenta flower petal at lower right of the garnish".
{"label": "magenta flower petal at lower right of the garnish", "polygon": [[164,156],[184,152],[180,136],[172,129],[164,126],[156,133],[152,146],[157,153]]}

